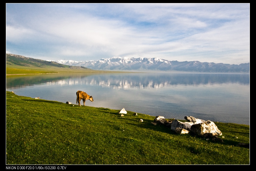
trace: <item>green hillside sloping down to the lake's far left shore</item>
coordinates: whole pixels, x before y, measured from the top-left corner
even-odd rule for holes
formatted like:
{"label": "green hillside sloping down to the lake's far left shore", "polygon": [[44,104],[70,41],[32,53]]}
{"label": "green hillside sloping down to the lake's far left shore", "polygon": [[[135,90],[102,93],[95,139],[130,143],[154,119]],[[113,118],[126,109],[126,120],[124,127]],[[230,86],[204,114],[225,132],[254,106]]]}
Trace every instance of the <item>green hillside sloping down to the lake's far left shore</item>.
{"label": "green hillside sloping down to the lake's far left shore", "polygon": [[[68,66],[41,59],[27,58],[21,55],[6,54],[6,74],[40,74],[40,73],[106,73],[82,66]],[[111,71],[109,71],[111,72]]]}

